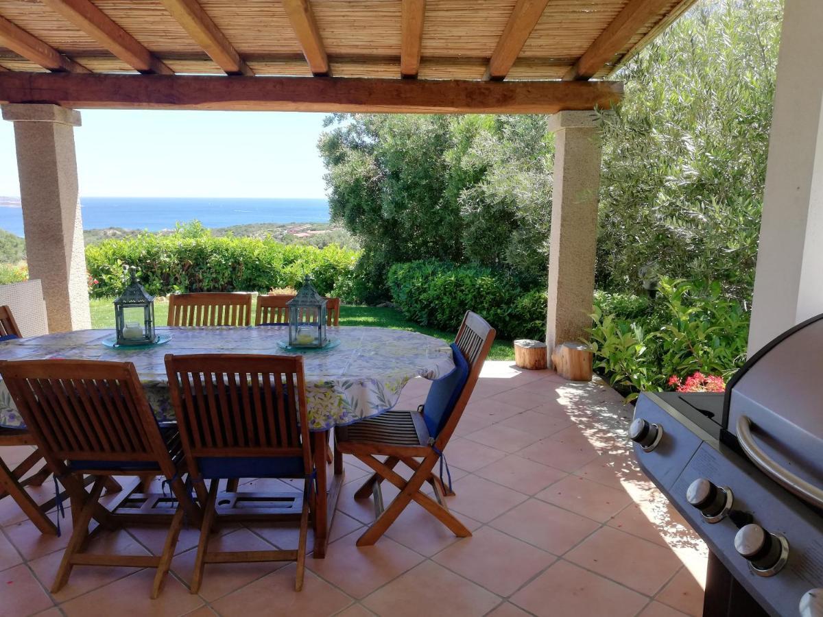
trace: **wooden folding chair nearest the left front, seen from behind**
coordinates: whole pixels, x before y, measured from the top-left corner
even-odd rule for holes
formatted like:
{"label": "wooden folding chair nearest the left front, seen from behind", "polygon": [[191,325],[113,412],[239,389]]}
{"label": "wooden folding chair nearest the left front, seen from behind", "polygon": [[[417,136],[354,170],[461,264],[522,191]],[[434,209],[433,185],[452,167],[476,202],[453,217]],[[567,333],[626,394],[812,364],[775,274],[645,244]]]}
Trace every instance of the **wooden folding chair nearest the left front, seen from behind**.
{"label": "wooden folding chair nearest the left front, seen from behind", "polygon": [[[52,593],[67,583],[76,565],[157,568],[151,597],[169,572],[184,512],[199,522],[200,511],[180,475],[183,449],[176,427],[161,431],[131,362],[17,360],[0,363],[0,373],[26,420],[49,470],[72,500],[74,528]],[[159,557],[89,554],[86,545],[101,528],[117,527],[99,503],[109,476],[165,476],[178,507]],[[91,494],[83,476],[95,476]],[[91,519],[100,526],[89,533]]]}

